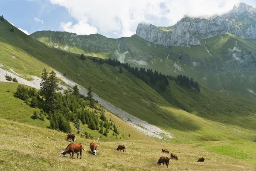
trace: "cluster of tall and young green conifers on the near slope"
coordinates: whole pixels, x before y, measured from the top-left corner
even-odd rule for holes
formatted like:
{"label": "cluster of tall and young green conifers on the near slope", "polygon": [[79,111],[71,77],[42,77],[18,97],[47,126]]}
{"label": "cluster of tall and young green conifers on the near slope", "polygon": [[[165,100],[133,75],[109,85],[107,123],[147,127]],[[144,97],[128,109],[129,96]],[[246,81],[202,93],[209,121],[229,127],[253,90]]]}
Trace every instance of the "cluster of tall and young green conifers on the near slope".
{"label": "cluster of tall and young green conifers on the near slope", "polygon": [[[40,100],[44,110],[41,109],[39,114],[35,111],[32,115],[33,119],[44,120],[44,115],[48,115],[50,128],[64,132],[71,131],[70,122],[80,128],[79,121],[81,121],[83,125],[87,124],[88,128],[99,130],[105,136],[108,136],[110,130],[119,133],[116,125],[113,125],[106,118],[105,110],[94,105],[91,87],[88,88],[87,97],[79,93],[77,85],[73,87],[73,90],[64,90],[62,94],[58,91],[58,80],[54,71],[48,73],[44,68],[41,79],[41,89],[38,92],[35,88],[19,85],[14,93],[17,98],[24,100],[26,104],[30,101],[32,107],[38,107],[38,100]],[[96,110],[89,110],[87,106]],[[100,116],[97,115],[97,110],[99,110]]]}

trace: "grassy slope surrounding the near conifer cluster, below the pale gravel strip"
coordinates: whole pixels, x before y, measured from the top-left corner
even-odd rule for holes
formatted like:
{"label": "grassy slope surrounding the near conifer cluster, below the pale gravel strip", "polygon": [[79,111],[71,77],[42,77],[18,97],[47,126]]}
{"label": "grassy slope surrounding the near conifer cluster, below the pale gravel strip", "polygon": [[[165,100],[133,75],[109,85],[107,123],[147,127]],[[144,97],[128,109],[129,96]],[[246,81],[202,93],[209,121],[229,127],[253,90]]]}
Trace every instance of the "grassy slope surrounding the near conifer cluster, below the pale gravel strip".
{"label": "grassy slope surrounding the near conifer cluster, below the pale gravel strip", "polygon": [[[15,83],[0,83],[0,118],[2,119],[8,119],[16,122],[21,122],[29,125],[34,125],[41,128],[48,128],[50,123],[46,116],[44,121],[41,121],[39,119],[32,119],[33,112],[36,110],[39,112],[38,108],[32,108],[29,106],[29,104],[25,104],[24,101],[16,98],[14,96],[14,92],[16,92],[18,84]],[[40,107],[41,108],[41,107]],[[89,107],[87,107],[89,110],[93,110]],[[98,113],[99,116],[99,113]],[[143,133],[141,133],[139,130],[131,127],[128,123],[124,122],[122,119],[119,119],[117,116],[113,115],[112,113],[108,112],[106,110],[105,116],[113,123],[116,124],[116,126],[120,130],[120,134],[118,135],[118,139],[116,139],[116,136],[112,136],[113,131],[110,131],[108,133],[108,136],[103,136],[101,133],[99,133],[98,130],[91,130],[88,128],[88,125],[82,125],[81,128],[83,128],[84,131],[87,131],[90,133],[95,139],[97,137],[102,136],[101,141],[117,141],[117,140],[148,140],[149,137],[145,136]],[[80,134],[77,134],[77,129],[71,124],[72,131],[71,133],[74,133],[76,136],[81,136],[83,132]],[[124,136],[122,136],[124,134]],[[128,135],[131,136],[128,136]],[[84,134],[83,134],[84,136]]]}

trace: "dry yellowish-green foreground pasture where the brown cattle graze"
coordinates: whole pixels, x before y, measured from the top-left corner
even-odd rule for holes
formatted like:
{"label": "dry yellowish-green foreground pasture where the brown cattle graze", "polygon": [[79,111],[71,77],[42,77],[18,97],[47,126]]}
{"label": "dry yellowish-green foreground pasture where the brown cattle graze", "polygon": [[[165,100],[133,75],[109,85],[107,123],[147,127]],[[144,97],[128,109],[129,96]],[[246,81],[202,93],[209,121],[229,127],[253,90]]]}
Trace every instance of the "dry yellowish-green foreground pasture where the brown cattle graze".
{"label": "dry yellowish-green foreground pasture where the brown cattle graze", "polygon": [[[0,119],[0,122],[2,137],[0,149],[3,156],[0,160],[0,168],[5,171],[155,171],[159,169],[212,171],[223,170],[223,168],[227,171],[253,171],[256,169],[255,166],[234,157],[207,152],[200,148],[190,148],[189,145],[173,145],[155,140],[99,141],[97,156],[92,156],[89,144],[95,140],[77,137],[76,141],[80,142],[86,151],[82,152],[82,159],[72,160],[69,157],[59,157],[60,150],[70,143],[67,142],[65,133],[5,119]],[[125,145],[126,153],[116,151],[119,144]],[[255,148],[255,146],[252,147]],[[177,154],[180,160],[170,162],[169,168],[156,165],[159,157],[169,156],[161,153],[162,148],[168,148]],[[196,162],[199,157],[204,157],[205,162]],[[252,157],[255,159],[255,156]]]}

